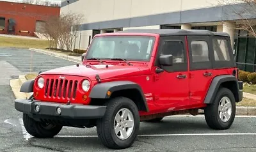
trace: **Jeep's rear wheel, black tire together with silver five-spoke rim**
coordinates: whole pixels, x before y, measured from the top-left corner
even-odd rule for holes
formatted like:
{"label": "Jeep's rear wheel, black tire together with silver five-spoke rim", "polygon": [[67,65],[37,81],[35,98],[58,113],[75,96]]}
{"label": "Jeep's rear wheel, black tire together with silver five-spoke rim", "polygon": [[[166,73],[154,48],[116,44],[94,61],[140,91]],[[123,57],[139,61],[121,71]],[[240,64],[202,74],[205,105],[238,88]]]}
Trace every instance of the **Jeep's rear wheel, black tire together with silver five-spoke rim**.
{"label": "Jeep's rear wheel, black tire together with silver five-spoke rim", "polygon": [[236,115],[236,100],[230,89],[221,88],[212,104],[205,108],[205,120],[210,128],[225,130],[230,128]]}

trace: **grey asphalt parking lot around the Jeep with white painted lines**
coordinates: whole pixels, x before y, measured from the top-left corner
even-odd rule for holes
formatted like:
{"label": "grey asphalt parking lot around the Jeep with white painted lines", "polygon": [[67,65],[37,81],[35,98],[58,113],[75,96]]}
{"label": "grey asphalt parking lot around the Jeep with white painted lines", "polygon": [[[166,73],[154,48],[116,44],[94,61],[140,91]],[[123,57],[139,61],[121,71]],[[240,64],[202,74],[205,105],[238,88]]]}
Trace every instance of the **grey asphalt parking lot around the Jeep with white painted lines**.
{"label": "grey asphalt parking lot around the Jeep with white painted lines", "polygon": [[[30,70],[74,64],[27,49],[0,48],[0,151],[113,151],[100,143],[96,128],[65,127],[52,139],[31,137],[22,114],[14,109],[8,80]],[[256,117],[237,116],[229,130],[218,131],[211,130],[203,116],[172,116],[161,123],[141,123],[136,142],[120,151],[256,151],[255,128]]]}

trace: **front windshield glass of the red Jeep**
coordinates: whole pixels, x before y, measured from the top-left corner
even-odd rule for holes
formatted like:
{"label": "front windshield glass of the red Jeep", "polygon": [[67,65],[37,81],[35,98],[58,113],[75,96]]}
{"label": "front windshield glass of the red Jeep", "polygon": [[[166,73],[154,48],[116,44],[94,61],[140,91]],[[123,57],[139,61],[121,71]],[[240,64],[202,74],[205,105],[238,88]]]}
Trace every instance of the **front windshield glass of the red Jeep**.
{"label": "front windshield glass of the red Jeep", "polygon": [[95,37],[86,59],[125,59],[149,61],[154,36],[100,36]]}

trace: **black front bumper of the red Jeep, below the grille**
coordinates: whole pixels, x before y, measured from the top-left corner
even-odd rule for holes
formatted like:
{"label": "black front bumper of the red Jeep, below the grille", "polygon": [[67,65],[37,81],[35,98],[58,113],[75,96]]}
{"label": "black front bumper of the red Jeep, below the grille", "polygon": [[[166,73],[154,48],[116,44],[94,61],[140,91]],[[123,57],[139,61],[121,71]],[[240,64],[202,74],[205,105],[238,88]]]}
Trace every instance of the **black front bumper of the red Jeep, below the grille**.
{"label": "black front bumper of the red Jeep, below the grille", "polygon": [[[35,111],[35,106],[39,105],[39,112]],[[61,114],[56,109],[61,108]],[[102,118],[106,111],[106,106],[40,102],[36,100],[17,99],[15,100],[15,109],[29,114],[32,117],[54,117],[64,119],[97,119]]]}

